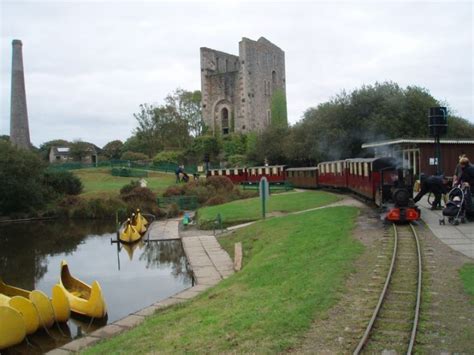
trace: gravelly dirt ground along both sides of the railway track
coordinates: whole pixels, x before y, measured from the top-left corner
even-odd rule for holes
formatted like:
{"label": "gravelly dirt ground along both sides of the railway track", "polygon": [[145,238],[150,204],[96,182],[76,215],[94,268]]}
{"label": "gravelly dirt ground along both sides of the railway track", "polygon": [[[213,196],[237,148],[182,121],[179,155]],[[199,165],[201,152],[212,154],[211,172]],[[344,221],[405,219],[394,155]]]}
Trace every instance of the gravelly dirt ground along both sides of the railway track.
{"label": "gravelly dirt ground along both sides of the railway track", "polygon": [[[361,211],[354,237],[366,250],[355,263],[337,305],[315,320],[295,352],[352,353],[365,331],[383,287],[393,244],[391,231],[378,214],[368,208]],[[473,260],[441,243],[423,224],[418,233],[424,254],[424,293],[415,351],[472,353],[474,305],[463,291],[458,270]],[[397,318],[397,314],[390,316]]]}

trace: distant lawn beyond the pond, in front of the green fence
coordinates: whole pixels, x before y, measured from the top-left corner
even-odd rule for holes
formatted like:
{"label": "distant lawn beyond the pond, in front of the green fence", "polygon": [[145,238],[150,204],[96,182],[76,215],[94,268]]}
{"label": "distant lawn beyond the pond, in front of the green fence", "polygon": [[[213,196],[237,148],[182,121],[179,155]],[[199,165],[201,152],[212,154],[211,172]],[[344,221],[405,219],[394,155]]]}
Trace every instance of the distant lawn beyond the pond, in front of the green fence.
{"label": "distant lawn beyond the pond, in front of the green fence", "polygon": [[[110,169],[100,168],[73,170],[73,173],[79,176],[84,184],[84,192],[81,197],[85,198],[118,196],[124,185],[130,183],[131,180],[138,179],[112,176]],[[161,193],[175,183],[175,176],[174,174],[148,172],[148,177],[145,180],[153,192]]]}

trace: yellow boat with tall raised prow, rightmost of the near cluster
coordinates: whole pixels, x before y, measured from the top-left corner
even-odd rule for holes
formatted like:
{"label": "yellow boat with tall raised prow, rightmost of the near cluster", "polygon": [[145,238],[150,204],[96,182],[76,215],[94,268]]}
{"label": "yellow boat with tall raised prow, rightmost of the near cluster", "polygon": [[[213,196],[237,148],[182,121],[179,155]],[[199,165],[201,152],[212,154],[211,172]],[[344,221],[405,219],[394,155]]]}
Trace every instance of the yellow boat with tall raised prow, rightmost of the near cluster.
{"label": "yellow boat with tall raised prow, rightmost of the near cluster", "polygon": [[89,286],[76,279],[69,272],[66,261],[61,261],[61,278],[59,286],[66,291],[71,311],[91,318],[103,318],[107,315],[102,289],[97,281]]}

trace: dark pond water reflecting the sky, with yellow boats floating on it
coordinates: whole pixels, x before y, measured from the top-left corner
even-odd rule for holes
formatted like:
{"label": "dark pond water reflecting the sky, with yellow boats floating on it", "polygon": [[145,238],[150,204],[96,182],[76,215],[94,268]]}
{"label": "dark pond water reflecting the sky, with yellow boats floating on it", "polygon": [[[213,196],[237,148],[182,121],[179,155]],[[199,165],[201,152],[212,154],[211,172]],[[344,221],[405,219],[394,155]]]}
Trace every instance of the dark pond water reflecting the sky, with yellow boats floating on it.
{"label": "dark pond water reflecting the sky, with yellow boats floating on it", "polygon": [[191,286],[180,241],[130,247],[112,244],[115,238],[113,221],[0,225],[0,277],[7,284],[51,295],[64,259],[73,276],[89,284],[99,281],[108,309],[106,320],[72,318],[29,336],[10,353],[48,351]]}

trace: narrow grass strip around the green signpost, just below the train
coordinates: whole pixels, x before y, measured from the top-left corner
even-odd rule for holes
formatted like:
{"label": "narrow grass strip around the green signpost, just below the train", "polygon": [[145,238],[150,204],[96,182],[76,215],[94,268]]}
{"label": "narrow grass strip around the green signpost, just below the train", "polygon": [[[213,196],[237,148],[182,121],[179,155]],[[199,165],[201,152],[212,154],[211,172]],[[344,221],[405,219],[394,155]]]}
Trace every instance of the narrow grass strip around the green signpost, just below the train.
{"label": "narrow grass strip around the green signpost, just below the train", "polygon": [[[323,191],[290,192],[271,195],[268,201],[268,213],[295,212],[320,207],[336,202],[340,197]],[[223,205],[201,208],[198,211],[198,223],[201,228],[212,228],[213,221],[220,213],[224,226],[255,221],[262,217],[259,197],[229,202]]]}

